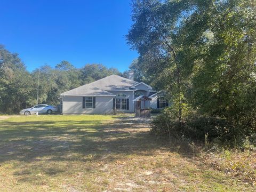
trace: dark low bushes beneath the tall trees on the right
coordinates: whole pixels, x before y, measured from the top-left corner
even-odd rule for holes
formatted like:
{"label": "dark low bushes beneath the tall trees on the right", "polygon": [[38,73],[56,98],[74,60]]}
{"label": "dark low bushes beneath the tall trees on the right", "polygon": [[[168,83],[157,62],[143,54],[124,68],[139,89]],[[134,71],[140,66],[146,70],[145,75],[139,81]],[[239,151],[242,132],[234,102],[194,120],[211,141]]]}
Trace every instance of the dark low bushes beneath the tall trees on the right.
{"label": "dark low bushes beneath the tall trees on the right", "polygon": [[[176,139],[188,138],[193,141],[214,141],[228,147],[244,148],[244,143],[255,143],[255,132],[246,125],[231,124],[220,117],[200,116],[189,113],[182,118],[179,126],[178,115],[171,107],[166,108],[151,122],[151,133]],[[254,122],[253,122],[254,123]],[[252,122],[251,122],[252,124]]]}

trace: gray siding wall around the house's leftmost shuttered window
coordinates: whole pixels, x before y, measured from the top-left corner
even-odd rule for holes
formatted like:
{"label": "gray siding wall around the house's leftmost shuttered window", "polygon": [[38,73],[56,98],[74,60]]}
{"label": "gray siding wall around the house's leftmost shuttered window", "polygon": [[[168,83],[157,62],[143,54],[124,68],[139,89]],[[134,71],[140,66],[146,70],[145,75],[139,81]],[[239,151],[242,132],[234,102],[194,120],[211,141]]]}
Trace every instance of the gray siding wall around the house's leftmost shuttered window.
{"label": "gray siding wall around the house's leftmost shuttered window", "polygon": [[63,97],[62,114],[106,114],[113,113],[113,98],[106,96],[95,96],[95,108],[84,109],[83,97]]}

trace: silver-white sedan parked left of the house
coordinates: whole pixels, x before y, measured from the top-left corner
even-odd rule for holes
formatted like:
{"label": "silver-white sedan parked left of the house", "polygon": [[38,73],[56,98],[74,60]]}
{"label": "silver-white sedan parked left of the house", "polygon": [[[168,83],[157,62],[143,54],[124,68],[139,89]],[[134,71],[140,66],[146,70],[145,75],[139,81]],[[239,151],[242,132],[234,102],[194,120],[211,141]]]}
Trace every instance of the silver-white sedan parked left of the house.
{"label": "silver-white sedan parked left of the house", "polygon": [[20,115],[31,115],[31,114],[39,114],[39,113],[46,113],[46,114],[52,114],[53,112],[57,112],[58,108],[55,108],[53,106],[49,105],[36,105],[31,108],[23,109],[20,111]]}

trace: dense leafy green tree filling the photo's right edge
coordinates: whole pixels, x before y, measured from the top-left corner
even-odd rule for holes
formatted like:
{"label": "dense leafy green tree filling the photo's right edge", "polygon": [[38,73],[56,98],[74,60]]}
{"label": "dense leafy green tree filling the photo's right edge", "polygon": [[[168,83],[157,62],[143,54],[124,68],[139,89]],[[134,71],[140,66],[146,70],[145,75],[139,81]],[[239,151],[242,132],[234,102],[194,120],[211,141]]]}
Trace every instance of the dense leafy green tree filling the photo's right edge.
{"label": "dense leafy green tree filling the photo's right edge", "polygon": [[231,127],[226,139],[235,142],[256,131],[255,1],[217,5],[207,28],[213,41],[195,62],[192,103],[203,114],[226,119]]}

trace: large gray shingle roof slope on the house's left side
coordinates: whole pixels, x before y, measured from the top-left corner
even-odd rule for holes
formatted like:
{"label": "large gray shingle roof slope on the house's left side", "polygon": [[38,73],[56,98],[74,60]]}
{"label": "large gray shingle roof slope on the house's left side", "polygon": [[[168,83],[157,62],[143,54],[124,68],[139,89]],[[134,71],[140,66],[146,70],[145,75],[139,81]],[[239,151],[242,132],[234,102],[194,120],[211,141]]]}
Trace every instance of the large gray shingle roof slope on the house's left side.
{"label": "large gray shingle roof slope on the house's left side", "polygon": [[61,94],[114,95],[104,90],[130,90],[130,87],[136,84],[138,82],[118,75],[110,75]]}

